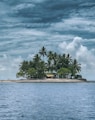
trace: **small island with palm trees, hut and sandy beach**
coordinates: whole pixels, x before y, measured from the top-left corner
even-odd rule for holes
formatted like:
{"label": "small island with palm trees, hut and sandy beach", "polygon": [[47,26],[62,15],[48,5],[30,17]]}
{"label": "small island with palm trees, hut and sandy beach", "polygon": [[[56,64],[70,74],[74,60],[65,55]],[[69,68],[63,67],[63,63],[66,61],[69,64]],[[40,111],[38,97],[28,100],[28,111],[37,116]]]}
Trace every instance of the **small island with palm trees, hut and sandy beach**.
{"label": "small island with palm trees, hut and sandy beach", "polygon": [[68,53],[47,51],[43,46],[32,60],[24,60],[15,82],[85,82],[80,74],[81,64]]}

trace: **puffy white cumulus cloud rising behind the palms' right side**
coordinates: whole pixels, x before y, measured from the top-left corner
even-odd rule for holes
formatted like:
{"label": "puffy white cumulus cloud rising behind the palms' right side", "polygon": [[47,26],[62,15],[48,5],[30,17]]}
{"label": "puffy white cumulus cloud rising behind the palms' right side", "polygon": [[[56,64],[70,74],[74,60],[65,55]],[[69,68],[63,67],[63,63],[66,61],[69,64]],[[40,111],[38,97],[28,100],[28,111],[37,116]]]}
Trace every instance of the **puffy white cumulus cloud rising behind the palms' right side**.
{"label": "puffy white cumulus cloud rising behind the palms' right side", "polygon": [[64,41],[59,44],[59,47],[64,51],[64,53],[70,53],[73,58],[78,59],[81,63],[82,74],[89,79],[94,79],[95,73],[95,49],[88,49],[82,44],[84,41],[80,37],[75,37],[71,42],[67,43]]}

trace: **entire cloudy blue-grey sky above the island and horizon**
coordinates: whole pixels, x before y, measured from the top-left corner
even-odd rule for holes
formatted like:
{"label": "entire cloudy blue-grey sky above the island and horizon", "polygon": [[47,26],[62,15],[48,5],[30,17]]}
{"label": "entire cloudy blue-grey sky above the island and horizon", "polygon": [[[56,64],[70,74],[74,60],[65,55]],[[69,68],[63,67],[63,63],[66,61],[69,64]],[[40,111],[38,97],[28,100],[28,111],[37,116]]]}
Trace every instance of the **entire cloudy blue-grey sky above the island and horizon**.
{"label": "entire cloudy blue-grey sky above the island and horizon", "polygon": [[0,0],[0,79],[45,46],[69,53],[95,80],[95,0]]}

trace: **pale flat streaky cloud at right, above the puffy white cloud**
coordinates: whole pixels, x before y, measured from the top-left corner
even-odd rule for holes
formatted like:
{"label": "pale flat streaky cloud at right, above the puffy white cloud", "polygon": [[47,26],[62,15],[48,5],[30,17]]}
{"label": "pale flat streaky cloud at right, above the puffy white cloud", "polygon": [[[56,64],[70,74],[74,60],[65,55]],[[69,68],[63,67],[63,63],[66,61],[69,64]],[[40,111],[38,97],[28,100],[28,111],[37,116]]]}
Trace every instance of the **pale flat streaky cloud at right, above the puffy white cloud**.
{"label": "pale flat streaky cloud at right, above the puffy white cloud", "polygon": [[95,31],[95,21],[92,19],[85,19],[79,17],[73,17],[66,20],[62,20],[56,24],[51,25],[51,30],[59,30],[59,31],[69,31],[69,30],[77,30],[77,31]]}

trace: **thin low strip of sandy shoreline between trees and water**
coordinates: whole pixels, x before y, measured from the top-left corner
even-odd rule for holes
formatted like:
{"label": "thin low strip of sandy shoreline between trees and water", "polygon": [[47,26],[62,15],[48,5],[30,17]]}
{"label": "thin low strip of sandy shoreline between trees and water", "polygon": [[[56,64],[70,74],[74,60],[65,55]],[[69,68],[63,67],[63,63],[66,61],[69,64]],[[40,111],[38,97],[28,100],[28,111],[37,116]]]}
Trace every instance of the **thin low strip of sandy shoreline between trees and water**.
{"label": "thin low strip of sandy shoreline between trees and water", "polygon": [[32,79],[32,80],[0,80],[0,83],[83,83],[83,82],[94,82],[78,79]]}

